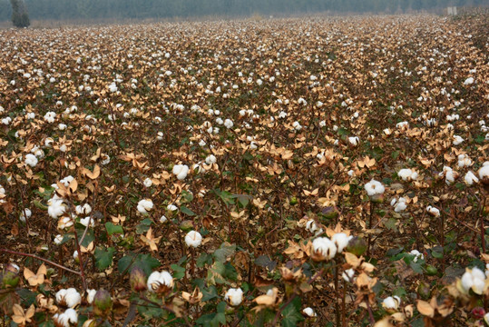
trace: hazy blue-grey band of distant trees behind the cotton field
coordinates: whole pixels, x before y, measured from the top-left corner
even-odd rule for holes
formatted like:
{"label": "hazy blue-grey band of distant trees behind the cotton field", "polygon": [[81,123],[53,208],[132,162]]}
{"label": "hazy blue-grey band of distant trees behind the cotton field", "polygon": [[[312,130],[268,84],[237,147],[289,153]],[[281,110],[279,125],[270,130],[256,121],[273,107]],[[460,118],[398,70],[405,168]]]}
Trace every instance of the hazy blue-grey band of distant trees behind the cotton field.
{"label": "hazy blue-grey band of distant trees behind the cotton field", "polygon": [[[295,15],[319,12],[442,13],[446,6],[488,5],[489,0],[24,0],[31,20],[127,20]],[[0,21],[9,21],[9,0],[0,0]]]}

